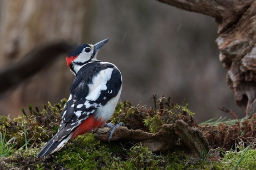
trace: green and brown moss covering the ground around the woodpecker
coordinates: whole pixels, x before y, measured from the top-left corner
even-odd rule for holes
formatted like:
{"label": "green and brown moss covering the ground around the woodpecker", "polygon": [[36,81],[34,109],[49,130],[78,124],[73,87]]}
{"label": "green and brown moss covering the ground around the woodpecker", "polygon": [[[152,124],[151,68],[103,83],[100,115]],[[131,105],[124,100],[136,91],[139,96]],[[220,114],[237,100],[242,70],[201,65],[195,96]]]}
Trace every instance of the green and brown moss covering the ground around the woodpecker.
{"label": "green and brown moss covering the ground around the woodpecker", "polygon": [[[129,101],[118,103],[111,121],[124,122],[128,128],[155,133],[162,124],[183,119],[189,126],[201,128],[204,134],[208,134],[206,135],[208,140],[212,139],[215,145],[221,144],[223,138],[229,139],[225,142],[232,145],[232,141],[234,144],[239,135],[243,137],[247,135],[249,137],[247,141],[253,139],[250,134],[254,131],[252,125],[255,124],[256,116],[251,120],[240,122],[244,126],[234,123],[225,126],[220,124],[218,128],[200,127],[194,122],[194,113],[189,111],[188,104],[176,104],[171,98],[163,96],[152,98],[155,107],[151,108],[132,106]],[[245,148],[240,147],[236,149],[237,151],[230,150],[226,153],[225,148],[219,148],[223,154],[216,151],[203,153],[200,158],[189,158],[183,152],[152,153],[140,143],[109,144],[97,140],[93,133],[87,133],[70,140],[60,151],[51,156],[44,159],[36,158],[35,155],[42,146],[56,133],[65,103],[66,99],[57,104],[48,103],[43,105],[42,110],[40,107],[29,106],[28,113],[23,111],[23,120],[21,116],[14,119],[0,118],[2,120],[0,132],[6,131],[6,140],[17,137],[16,146],[10,156],[0,157],[0,169],[234,169],[245,151]],[[25,143],[23,121],[29,140],[28,149],[22,147]],[[224,135],[225,132],[229,132],[228,135]],[[243,139],[245,141],[245,138]],[[255,152],[254,149],[248,149],[239,163],[239,169],[253,169],[256,166]],[[223,157],[221,161],[220,157]]]}

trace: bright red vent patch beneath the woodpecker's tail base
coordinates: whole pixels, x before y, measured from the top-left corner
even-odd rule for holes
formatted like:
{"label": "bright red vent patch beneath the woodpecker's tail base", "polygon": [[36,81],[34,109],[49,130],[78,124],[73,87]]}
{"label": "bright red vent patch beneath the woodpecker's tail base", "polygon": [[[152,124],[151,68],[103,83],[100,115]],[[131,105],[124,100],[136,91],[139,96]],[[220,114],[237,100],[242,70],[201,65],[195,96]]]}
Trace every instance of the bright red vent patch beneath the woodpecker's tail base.
{"label": "bright red vent patch beneath the woodpecker's tail base", "polygon": [[101,119],[95,119],[93,116],[88,117],[83,121],[76,129],[75,132],[72,134],[71,139],[75,138],[80,134],[85,134],[90,132],[92,129],[99,128],[103,126],[106,121],[101,121]]}

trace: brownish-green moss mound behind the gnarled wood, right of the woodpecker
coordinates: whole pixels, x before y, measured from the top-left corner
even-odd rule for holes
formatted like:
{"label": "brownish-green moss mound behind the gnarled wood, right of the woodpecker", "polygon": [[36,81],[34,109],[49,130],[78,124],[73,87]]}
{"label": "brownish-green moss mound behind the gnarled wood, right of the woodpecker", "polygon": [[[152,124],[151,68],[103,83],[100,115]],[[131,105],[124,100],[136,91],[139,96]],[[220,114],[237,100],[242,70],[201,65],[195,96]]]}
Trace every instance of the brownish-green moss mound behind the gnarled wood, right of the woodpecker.
{"label": "brownish-green moss mound behind the gnarled wood, right of the woodpecker", "polygon": [[171,98],[152,96],[155,107],[147,109],[145,106],[131,106],[129,101],[118,103],[112,116],[112,123],[124,122],[129,129],[141,129],[142,131],[156,133],[163,124],[175,123],[183,119],[189,126],[198,126],[193,119],[195,113],[189,111],[188,103],[182,105],[173,103]]}

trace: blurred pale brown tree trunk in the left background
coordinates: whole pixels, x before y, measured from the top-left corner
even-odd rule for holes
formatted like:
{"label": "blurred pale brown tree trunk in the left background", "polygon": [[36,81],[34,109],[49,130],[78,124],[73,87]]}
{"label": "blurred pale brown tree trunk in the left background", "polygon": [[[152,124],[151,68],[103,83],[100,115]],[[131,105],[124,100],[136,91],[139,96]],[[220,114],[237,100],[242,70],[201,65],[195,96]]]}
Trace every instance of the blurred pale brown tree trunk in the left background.
{"label": "blurred pale brown tree trunk in the left background", "polygon": [[[26,109],[28,104],[42,106],[47,101],[59,102],[67,98],[73,79],[65,63],[66,51],[70,49],[67,44],[88,39],[91,1],[3,0],[0,9],[1,71],[7,67],[20,68],[7,77],[13,79],[11,83],[19,84],[12,91],[1,93],[0,114],[16,116],[21,113],[20,108]],[[53,45],[56,42],[65,43],[60,47],[61,44]],[[45,48],[45,45],[51,48]],[[28,52],[35,47],[44,50],[32,56],[39,58],[30,58],[29,61],[27,57],[31,53]],[[58,58],[60,54],[62,59]],[[1,79],[1,83],[7,85],[9,81]]]}

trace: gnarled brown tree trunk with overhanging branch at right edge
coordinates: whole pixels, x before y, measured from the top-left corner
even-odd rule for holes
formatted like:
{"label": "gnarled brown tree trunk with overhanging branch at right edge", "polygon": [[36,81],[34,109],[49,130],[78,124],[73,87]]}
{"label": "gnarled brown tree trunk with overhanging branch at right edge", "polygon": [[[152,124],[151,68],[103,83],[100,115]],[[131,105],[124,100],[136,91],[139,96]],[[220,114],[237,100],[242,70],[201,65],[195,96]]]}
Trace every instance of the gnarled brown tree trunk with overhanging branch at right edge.
{"label": "gnarled brown tree trunk with overhanging branch at right edge", "polygon": [[256,112],[256,2],[253,0],[158,0],[214,17],[219,59],[228,69],[226,82],[246,116]]}

